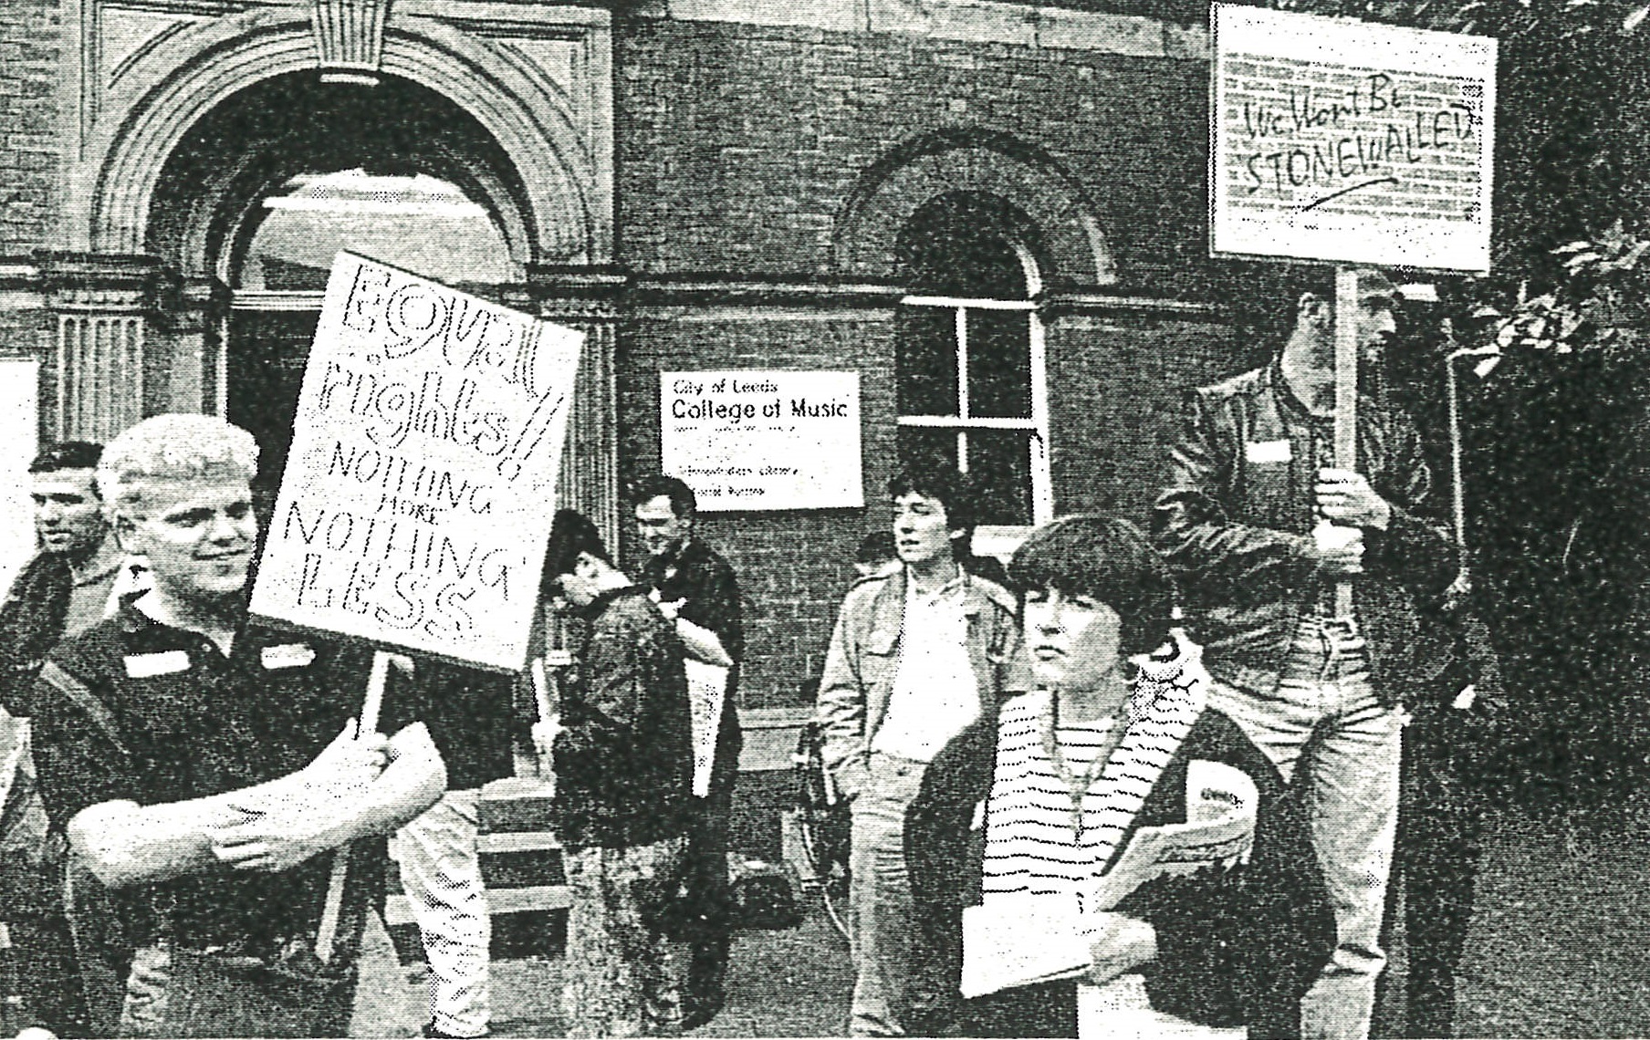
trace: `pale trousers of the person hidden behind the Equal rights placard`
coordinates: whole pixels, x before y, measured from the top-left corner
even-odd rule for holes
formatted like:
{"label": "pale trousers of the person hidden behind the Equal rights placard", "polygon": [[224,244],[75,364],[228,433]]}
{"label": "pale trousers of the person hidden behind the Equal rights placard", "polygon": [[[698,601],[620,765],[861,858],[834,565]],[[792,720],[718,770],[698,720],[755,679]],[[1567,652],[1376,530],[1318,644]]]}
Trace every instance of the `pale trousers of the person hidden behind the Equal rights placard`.
{"label": "pale trousers of the person hidden behind the Equal rights placard", "polygon": [[429,959],[429,1020],[450,1037],[488,1024],[492,916],[477,855],[480,791],[447,791],[389,839]]}

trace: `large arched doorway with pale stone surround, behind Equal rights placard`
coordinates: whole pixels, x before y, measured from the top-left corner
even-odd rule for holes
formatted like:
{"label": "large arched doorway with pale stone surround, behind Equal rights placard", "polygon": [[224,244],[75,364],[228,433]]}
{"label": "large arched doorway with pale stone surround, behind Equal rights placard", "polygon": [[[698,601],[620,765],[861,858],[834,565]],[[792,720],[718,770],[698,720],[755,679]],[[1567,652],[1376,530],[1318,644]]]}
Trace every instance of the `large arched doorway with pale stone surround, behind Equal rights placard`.
{"label": "large arched doorway with pale stone surround, behind Equal rights placard", "polygon": [[[43,376],[50,429],[102,440],[155,412],[248,425],[257,412],[279,465],[285,438],[269,405],[295,387],[320,302],[304,288],[314,255],[279,246],[279,226],[300,206],[340,216],[348,191],[305,194],[322,178],[399,178],[356,201],[417,203],[422,218],[432,203],[480,209],[475,234],[424,219],[422,231],[361,244],[360,223],[333,219],[309,252],[353,236],[370,255],[584,330],[561,501],[612,531],[610,15],[485,0],[450,0],[442,18],[368,7],[157,13],[104,41],[124,61],[71,91],[81,120],[69,124],[64,178],[71,252],[48,272],[59,326]],[[89,20],[76,31],[104,33]],[[386,237],[427,246],[409,254]],[[446,255],[460,239],[470,246]],[[488,262],[474,262],[480,254]]]}

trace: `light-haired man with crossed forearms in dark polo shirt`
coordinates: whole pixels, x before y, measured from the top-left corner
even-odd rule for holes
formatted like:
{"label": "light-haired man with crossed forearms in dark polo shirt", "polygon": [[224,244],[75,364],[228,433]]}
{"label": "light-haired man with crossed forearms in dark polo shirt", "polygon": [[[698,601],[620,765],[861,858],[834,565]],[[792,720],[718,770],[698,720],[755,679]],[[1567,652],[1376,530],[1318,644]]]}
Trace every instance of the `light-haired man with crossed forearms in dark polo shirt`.
{"label": "light-haired man with crossed forearms in dark polo shirt", "polygon": [[446,786],[419,697],[398,684],[393,735],[356,733],[368,656],[248,618],[256,465],[208,415],[116,437],[97,483],[153,585],[38,681],[46,811],[137,946],[125,1035],[348,1033],[383,836]]}

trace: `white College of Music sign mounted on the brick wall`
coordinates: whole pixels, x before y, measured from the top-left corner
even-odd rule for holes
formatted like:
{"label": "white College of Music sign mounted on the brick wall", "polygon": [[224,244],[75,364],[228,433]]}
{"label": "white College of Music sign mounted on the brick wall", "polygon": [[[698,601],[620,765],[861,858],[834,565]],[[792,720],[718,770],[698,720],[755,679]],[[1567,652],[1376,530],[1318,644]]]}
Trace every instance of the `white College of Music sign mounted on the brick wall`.
{"label": "white College of Music sign mounted on the brick wall", "polygon": [[658,407],[701,513],[865,504],[858,372],[660,372]]}

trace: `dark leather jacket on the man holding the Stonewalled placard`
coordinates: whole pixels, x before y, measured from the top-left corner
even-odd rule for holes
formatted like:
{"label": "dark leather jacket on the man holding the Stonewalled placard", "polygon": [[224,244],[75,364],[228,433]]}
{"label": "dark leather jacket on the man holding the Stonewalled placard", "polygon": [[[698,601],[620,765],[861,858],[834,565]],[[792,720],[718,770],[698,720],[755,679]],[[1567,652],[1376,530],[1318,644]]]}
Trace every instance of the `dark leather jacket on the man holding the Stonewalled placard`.
{"label": "dark leather jacket on the man holding the Stonewalled placard", "polygon": [[[1315,475],[1332,465],[1332,443],[1333,424],[1307,412],[1275,361],[1186,397],[1152,532],[1223,682],[1277,689],[1295,621],[1333,582],[1308,554]],[[1360,399],[1356,468],[1393,506],[1386,531],[1365,531],[1365,574],[1353,579],[1370,668],[1391,702],[1412,666],[1416,600],[1449,587],[1457,555],[1421,516],[1432,478],[1407,417]]]}

